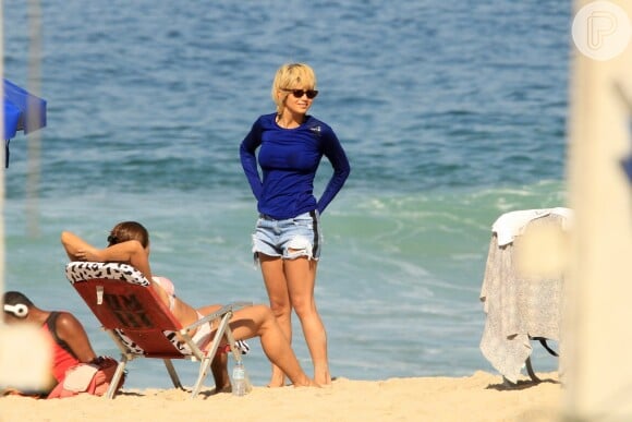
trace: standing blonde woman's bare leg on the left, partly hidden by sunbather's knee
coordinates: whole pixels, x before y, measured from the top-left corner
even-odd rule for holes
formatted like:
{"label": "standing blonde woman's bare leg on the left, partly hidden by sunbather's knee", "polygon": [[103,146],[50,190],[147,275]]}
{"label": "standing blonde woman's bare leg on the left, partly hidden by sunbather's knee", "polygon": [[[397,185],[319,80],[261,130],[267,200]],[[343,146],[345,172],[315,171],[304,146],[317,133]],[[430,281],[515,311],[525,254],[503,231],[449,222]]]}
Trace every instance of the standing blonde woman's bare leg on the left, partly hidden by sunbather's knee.
{"label": "standing blonde woman's bare leg on the left, partly hidden by sunbather's knee", "polygon": [[[264,284],[270,299],[270,309],[288,342],[292,343],[292,308],[283,273],[283,262],[279,256],[268,256],[263,253],[258,255]],[[281,387],[283,385],[285,385],[285,375],[279,366],[272,364],[272,375],[268,386]]]}

